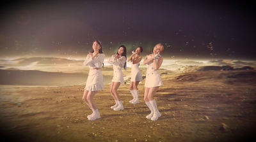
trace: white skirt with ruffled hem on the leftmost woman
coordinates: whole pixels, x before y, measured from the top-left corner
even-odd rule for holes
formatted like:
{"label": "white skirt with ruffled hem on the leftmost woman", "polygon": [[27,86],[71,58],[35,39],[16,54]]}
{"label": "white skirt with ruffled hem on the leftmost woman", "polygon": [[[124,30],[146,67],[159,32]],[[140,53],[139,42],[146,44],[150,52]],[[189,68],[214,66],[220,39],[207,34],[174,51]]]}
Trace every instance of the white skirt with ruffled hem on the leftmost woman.
{"label": "white skirt with ruffled hem on the leftmost woman", "polygon": [[104,79],[100,69],[89,71],[86,86],[84,89],[90,91],[104,89]]}

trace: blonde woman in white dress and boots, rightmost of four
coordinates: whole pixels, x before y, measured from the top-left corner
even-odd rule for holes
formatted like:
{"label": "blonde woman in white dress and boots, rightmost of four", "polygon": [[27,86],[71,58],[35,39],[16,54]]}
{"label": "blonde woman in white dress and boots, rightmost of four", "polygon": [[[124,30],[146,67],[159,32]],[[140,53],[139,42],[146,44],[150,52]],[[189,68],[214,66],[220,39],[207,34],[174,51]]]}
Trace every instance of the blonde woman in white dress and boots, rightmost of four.
{"label": "blonde woman in white dress and boots, rightmost of four", "polygon": [[154,96],[156,95],[159,86],[163,85],[161,75],[158,71],[163,63],[163,57],[160,55],[163,50],[164,46],[161,43],[157,44],[154,47],[153,53],[147,55],[143,61],[143,64],[147,64],[144,100],[151,111],[146,118],[151,120],[158,120],[158,118],[161,117]]}

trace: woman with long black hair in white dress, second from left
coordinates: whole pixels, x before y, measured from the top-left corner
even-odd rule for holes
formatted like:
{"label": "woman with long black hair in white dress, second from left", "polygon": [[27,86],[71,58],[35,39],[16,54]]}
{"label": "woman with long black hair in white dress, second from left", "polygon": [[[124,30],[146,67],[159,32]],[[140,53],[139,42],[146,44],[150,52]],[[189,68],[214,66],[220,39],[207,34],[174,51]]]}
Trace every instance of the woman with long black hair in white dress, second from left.
{"label": "woman with long black hair in white dress, second from left", "polygon": [[124,83],[124,74],[122,68],[126,70],[126,47],[121,45],[115,55],[112,55],[108,59],[108,63],[113,65],[113,79],[110,85],[110,92],[115,99],[115,105],[111,108],[115,111],[124,110],[121,98],[117,92],[120,83]]}

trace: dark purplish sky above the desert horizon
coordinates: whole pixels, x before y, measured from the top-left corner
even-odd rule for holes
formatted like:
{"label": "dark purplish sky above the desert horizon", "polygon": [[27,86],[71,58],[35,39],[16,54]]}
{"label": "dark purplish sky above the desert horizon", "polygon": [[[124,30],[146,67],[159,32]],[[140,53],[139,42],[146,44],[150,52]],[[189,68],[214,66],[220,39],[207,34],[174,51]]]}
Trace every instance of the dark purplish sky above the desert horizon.
{"label": "dark purplish sky above the desert horizon", "polygon": [[250,1],[6,1],[0,10],[0,57],[86,57],[92,42],[106,55],[164,45],[172,59],[255,60]]}

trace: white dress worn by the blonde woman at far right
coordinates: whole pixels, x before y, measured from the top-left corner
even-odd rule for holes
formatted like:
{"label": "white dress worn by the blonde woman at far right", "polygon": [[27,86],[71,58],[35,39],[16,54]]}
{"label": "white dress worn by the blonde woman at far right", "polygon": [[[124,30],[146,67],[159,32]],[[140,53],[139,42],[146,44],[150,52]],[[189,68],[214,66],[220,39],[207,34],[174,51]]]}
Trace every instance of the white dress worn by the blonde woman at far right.
{"label": "white dress worn by the blonde woman at far right", "polygon": [[[148,56],[148,59],[152,58],[152,56]],[[158,62],[158,59],[155,59]],[[157,69],[154,69],[153,62],[149,62],[147,64],[147,73],[146,73],[146,81],[145,87],[159,87],[163,85],[163,81],[161,75]]]}

